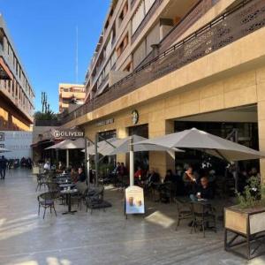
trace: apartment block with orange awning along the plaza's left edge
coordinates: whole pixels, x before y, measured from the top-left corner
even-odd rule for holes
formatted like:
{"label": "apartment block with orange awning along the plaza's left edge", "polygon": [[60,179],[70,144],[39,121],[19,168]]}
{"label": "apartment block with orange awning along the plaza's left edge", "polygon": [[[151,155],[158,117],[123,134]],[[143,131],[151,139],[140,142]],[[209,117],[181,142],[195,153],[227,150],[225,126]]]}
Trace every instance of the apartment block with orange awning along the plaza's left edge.
{"label": "apartment block with orange awning along the plaza's left edge", "polygon": [[0,14],[0,130],[29,131],[34,89]]}

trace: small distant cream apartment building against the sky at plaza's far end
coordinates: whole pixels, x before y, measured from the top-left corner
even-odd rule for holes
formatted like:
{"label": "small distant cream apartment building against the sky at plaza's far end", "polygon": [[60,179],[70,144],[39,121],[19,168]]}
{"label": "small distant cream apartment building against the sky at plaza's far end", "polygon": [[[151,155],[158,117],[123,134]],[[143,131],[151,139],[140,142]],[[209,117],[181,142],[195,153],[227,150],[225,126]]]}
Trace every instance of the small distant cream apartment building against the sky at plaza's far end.
{"label": "small distant cream apartment building against the sky at plaza's far end", "polygon": [[84,85],[78,84],[59,84],[59,111],[70,111],[77,105],[84,103],[86,97]]}

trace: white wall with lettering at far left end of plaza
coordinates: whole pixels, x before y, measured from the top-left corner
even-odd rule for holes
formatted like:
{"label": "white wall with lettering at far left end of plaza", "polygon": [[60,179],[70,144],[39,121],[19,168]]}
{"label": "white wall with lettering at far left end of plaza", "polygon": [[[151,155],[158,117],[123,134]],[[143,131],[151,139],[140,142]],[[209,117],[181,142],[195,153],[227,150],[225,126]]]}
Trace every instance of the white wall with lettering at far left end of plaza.
{"label": "white wall with lettering at far left end of plaza", "polygon": [[4,145],[4,148],[11,150],[11,152],[1,154],[6,158],[21,159],[23,156],[32,158],[32,143],[32,132],[0,131],[0,147]]}

